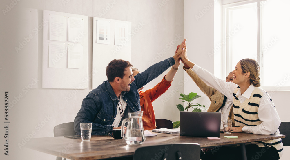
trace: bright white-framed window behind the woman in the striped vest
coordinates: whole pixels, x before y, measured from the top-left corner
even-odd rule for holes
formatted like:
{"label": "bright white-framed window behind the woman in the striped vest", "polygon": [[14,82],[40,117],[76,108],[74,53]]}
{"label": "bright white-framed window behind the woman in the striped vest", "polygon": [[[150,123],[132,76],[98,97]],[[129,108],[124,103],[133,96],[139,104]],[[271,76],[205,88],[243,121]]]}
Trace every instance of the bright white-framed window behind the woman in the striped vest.
{"label": "bright white-framed window behind the woman in the striped vest", "polygon": [[251,0],[223,5],[224,73],[243,58],[260,64],[265,90],[290,90],[290,1]]}

